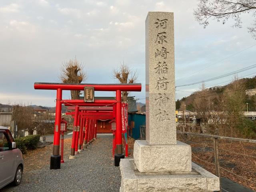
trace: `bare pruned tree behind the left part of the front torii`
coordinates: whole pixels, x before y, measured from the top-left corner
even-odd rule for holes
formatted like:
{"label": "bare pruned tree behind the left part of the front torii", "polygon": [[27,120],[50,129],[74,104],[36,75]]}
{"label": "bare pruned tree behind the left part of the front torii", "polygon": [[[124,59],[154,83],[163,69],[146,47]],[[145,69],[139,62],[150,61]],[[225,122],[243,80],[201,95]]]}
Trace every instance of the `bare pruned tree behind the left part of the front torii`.
{"label": "bare pruned tree behind the left part of the front torii", "polygon": [[[60,80],[63,83],[81,83],[86,80],[86,73],[83,71],[83,64],[76,57],[62,63]],[[79,99],[80,91],[71,90],[71,99]]]}

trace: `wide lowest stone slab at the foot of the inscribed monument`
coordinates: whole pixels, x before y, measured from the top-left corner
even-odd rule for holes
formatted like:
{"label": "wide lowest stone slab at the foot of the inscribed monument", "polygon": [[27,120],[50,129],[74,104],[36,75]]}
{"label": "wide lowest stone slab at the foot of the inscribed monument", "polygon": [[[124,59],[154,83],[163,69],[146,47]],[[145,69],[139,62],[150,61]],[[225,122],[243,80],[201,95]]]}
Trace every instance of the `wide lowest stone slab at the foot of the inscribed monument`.
{"label": "wide lowest stone slab at the foot of the inscribed monument", "polygon": [[191,172],[139,172],[133,159],[121,159],[120,192],[213,192],[217,176],[192,163]]}

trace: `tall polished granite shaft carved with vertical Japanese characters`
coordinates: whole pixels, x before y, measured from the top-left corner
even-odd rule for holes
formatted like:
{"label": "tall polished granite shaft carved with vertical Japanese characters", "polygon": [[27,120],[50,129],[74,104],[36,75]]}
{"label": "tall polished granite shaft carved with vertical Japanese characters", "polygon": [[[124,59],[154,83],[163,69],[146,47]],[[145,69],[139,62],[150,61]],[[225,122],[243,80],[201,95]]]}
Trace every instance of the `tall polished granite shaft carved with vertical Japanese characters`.
{"label": "tall polished granite shaft carved with vertical Japanese characters", "polygon": [[174,18],[148,12],[146,18],[146,140],[176,144]]}

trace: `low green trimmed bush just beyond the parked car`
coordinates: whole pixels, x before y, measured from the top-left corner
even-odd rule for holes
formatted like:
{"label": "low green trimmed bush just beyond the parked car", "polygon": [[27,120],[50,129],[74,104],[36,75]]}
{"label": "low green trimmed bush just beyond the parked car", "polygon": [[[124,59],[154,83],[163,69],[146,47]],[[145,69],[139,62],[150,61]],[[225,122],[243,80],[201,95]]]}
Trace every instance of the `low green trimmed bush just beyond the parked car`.
{"label": "low green trimmed bush just beyond the parked car", "polygon": [[22,154],[26,154],[26,150],[33,150],[37,148],[40,135],[28,135],[26,137],[15,139],[17,148]]}

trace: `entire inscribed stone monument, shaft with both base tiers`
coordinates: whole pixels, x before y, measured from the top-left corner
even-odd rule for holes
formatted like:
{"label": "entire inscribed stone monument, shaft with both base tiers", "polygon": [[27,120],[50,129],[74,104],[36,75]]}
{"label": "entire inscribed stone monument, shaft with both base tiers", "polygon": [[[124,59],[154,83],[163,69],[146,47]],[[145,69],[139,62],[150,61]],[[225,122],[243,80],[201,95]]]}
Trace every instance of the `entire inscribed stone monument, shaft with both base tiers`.
{"label": "entire inscribed stone monument, shaft with both base tiers", "polygon": [[134,143],[134,159],[121,159],[120,192],[206,192],[219,178],[192,164],[191,147],[176,141],[174,17],[146,18],[146,140]]}

